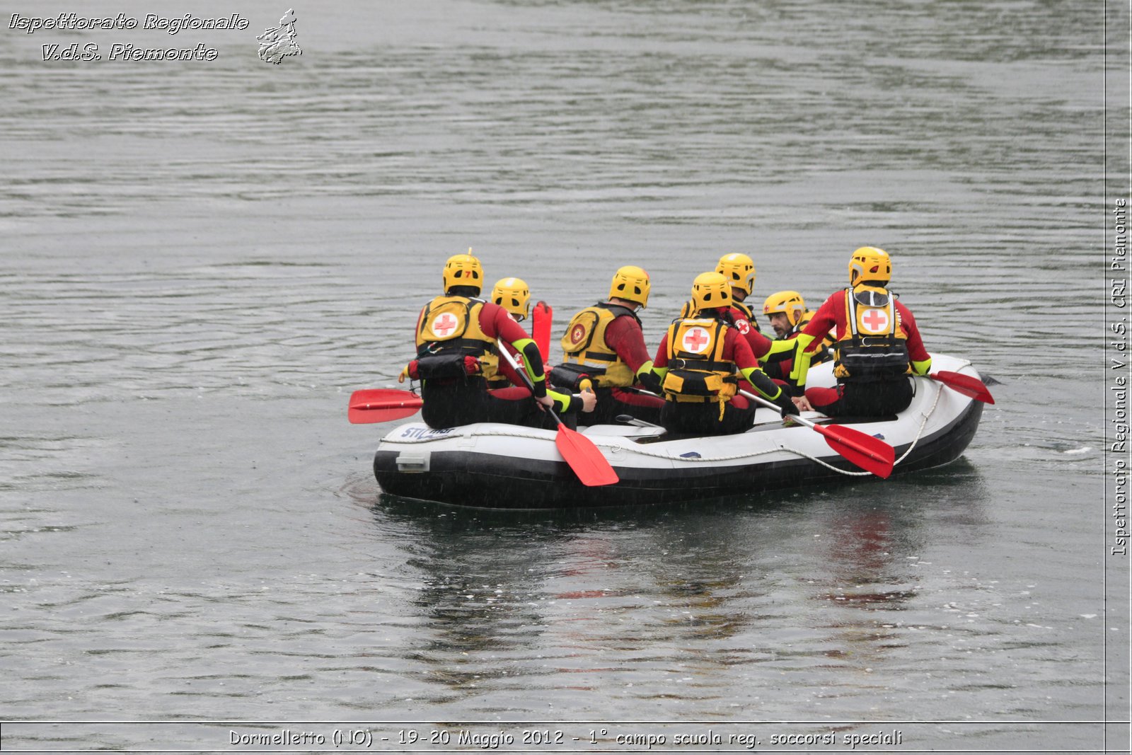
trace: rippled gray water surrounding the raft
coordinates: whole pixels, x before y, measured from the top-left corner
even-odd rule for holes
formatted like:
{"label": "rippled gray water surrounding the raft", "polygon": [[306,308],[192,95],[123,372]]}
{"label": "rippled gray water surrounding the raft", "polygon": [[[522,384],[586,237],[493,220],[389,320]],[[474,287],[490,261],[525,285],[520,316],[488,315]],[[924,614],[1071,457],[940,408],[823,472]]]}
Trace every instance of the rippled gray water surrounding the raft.
{"label": "rippled gray water surrounding the raft", "polygon": [[[82,7],[250,27],[27,35],[11,12],[71,8],[5,7],[5,749],[1127,749],[1100,325],[1126,8],[351,1],[295,7],[273,66],[284,6]],[[42,60],[76,41],[218,55]],[[392,426],[346,423],[468,247],[559,328],[644,266],[655,344],[724,252],[756,304],[816,308],[863,244],[929,350],[1001,381],[945,469],[491,513],[384,496]]]}

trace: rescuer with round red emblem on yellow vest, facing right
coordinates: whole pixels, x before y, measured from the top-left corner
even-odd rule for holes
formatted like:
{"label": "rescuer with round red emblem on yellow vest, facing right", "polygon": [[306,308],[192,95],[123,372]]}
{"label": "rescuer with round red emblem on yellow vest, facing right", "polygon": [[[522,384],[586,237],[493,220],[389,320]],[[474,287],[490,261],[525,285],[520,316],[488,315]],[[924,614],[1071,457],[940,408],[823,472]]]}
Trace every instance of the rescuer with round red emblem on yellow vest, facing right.
{"label": "rescuer with round red emblem on yellow vest, facing right", "polygon": [[637,308],[649,302],[652,283],[636,265],[617,269],[609,297],[576,312],[561,337],[563,362],[550,370],[550,381],[564,391],[576,391],[583,380],[594,385],[598,405],[586,421],[611,424],[618,414],[660,421],[664,401],[636,387],[649,376],[652,360],[644,342]]}

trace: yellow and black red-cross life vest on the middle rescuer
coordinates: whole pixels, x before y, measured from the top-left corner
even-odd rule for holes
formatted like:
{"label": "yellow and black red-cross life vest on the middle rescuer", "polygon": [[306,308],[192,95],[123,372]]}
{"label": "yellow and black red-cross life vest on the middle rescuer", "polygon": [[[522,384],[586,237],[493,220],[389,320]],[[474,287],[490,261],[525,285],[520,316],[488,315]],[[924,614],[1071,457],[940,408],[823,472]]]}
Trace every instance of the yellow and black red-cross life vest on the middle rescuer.
{"label": "yellow and black red-cross life vest on the middle rescuer", "polygon": [[723,359],[728,325],[718,319],[678,319],[668,326],[667,401],[730,401],[738,387],[735,362]]}

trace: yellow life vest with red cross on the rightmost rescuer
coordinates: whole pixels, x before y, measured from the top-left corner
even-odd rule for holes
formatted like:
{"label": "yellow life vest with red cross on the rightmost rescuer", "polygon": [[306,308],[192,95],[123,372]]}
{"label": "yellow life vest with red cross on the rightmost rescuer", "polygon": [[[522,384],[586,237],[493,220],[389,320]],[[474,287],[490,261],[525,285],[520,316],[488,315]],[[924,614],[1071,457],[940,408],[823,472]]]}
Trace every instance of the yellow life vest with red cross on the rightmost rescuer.
{"label": "yellow life vest with red cross on the rightmost rescuer", "polygon": [[911,375],[908,336],[900,327],[895,299],[885,289],[846,289],[846,328],[834,344],[833,375],[839,380],[890,380]]}

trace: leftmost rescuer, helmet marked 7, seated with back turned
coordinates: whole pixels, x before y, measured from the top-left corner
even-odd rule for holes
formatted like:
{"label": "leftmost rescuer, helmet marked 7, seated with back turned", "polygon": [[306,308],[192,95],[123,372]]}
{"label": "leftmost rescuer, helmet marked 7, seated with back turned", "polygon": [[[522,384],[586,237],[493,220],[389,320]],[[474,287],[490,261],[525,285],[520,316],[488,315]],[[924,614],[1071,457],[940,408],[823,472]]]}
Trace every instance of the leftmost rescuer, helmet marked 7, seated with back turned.
{"label": "leftmost rescuer, helmet marked 7, seated with back turned", "polygon": [[[397,380],[421,381],[424,422],[435,429],[472,422],[538,427],[549,419],[541,406],[561,413],[582,409],[581,397],[547,392],[542,355],[534,341],[507,310],[479,299],[482,285],[479,259],[471,254],[449,257],[444,265],[444,294],[424,304],[417,318],[417,359]],[[488,391],[488,378],[499,371],[496,338],[523,354],[523,369],[539,406],[526,401],[531,392],[525,387]]]}

